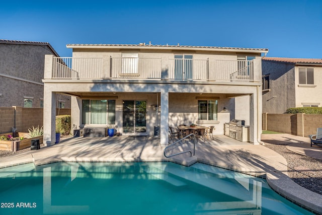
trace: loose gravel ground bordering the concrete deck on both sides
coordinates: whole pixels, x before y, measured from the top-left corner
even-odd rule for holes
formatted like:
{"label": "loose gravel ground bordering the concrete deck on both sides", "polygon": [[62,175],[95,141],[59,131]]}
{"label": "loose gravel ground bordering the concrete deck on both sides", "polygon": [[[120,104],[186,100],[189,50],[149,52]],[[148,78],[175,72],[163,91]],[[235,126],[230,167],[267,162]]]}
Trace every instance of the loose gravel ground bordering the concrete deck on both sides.
{"label": "loose gravel ground bordering the concrete deck on both sides", "polygon": [[[40,145],[41,147],[43,146]],[[267,144],[265,147],[279,153],[287,161],[289,177],[302,187],[322,195],[322,160],[295,154],[286,149],[287,144]],[[28,152],[30,148],[17,152],[0,150],[0,158]]]}

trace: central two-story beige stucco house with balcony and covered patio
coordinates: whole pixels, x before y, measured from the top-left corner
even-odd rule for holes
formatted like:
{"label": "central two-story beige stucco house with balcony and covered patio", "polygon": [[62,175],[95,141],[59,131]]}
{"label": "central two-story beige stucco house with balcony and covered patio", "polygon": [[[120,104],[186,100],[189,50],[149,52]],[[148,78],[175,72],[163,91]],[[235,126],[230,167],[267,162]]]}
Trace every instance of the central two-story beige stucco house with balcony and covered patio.
{"label": "central two-story beige stucco house with balcony and covered patio", "polygon": [[72,96],[77,128],[116,125],[123,135],[154,135],[159,127],[166,146],[169,125],[214,125],[214,134],[223,134],[224,123],[237,118],[250,125],[250,141],[259,144],[261,55],[268,49],[145,43],[67,48],[72,57],[45,59],[47,146],[55,142],[56,93]]}

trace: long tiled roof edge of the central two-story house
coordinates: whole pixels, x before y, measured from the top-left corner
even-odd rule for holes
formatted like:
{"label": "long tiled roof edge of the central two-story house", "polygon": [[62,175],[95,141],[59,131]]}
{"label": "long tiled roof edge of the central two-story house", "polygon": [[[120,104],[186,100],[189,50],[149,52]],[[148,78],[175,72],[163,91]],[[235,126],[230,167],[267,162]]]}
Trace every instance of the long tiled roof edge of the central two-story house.
{"label": "long tiled roof edge of the central two-story house", "polygon": [[67,48],[110,48],[110,49],[168,49],[168,50],[202,50],[202,51],[229,51],[229,52],[254,52],[267,53],[267,48],[237,48],[237,47],[215,47],[215,46],[188,46],[188,45],[150,45],[140,44],[67,44]]}

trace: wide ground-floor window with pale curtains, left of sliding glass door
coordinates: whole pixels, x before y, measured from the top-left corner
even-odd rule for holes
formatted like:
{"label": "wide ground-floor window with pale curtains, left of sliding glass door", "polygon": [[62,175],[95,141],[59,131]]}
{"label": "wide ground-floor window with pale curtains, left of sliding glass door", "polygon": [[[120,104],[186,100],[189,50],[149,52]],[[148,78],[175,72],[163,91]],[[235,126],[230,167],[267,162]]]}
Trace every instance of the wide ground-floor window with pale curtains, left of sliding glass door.
{"label": "wide ground-floor window with pale curtains, left of sliding glass door", "polygon": [[115,100],[83,100],[83,124],[115,124]]}

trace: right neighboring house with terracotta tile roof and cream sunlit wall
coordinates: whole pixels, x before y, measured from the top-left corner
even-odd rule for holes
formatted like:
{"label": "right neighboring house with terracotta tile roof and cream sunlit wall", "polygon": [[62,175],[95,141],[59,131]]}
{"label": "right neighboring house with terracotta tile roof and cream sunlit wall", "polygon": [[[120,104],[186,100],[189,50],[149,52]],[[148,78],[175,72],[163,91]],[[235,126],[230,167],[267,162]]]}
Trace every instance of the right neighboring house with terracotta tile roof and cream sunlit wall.
{"label": "right neighboring house with terracotta tile roof and cream sunlit wall", "polygon": [[322,106],[322,59],[263,57],[263,112]]}

